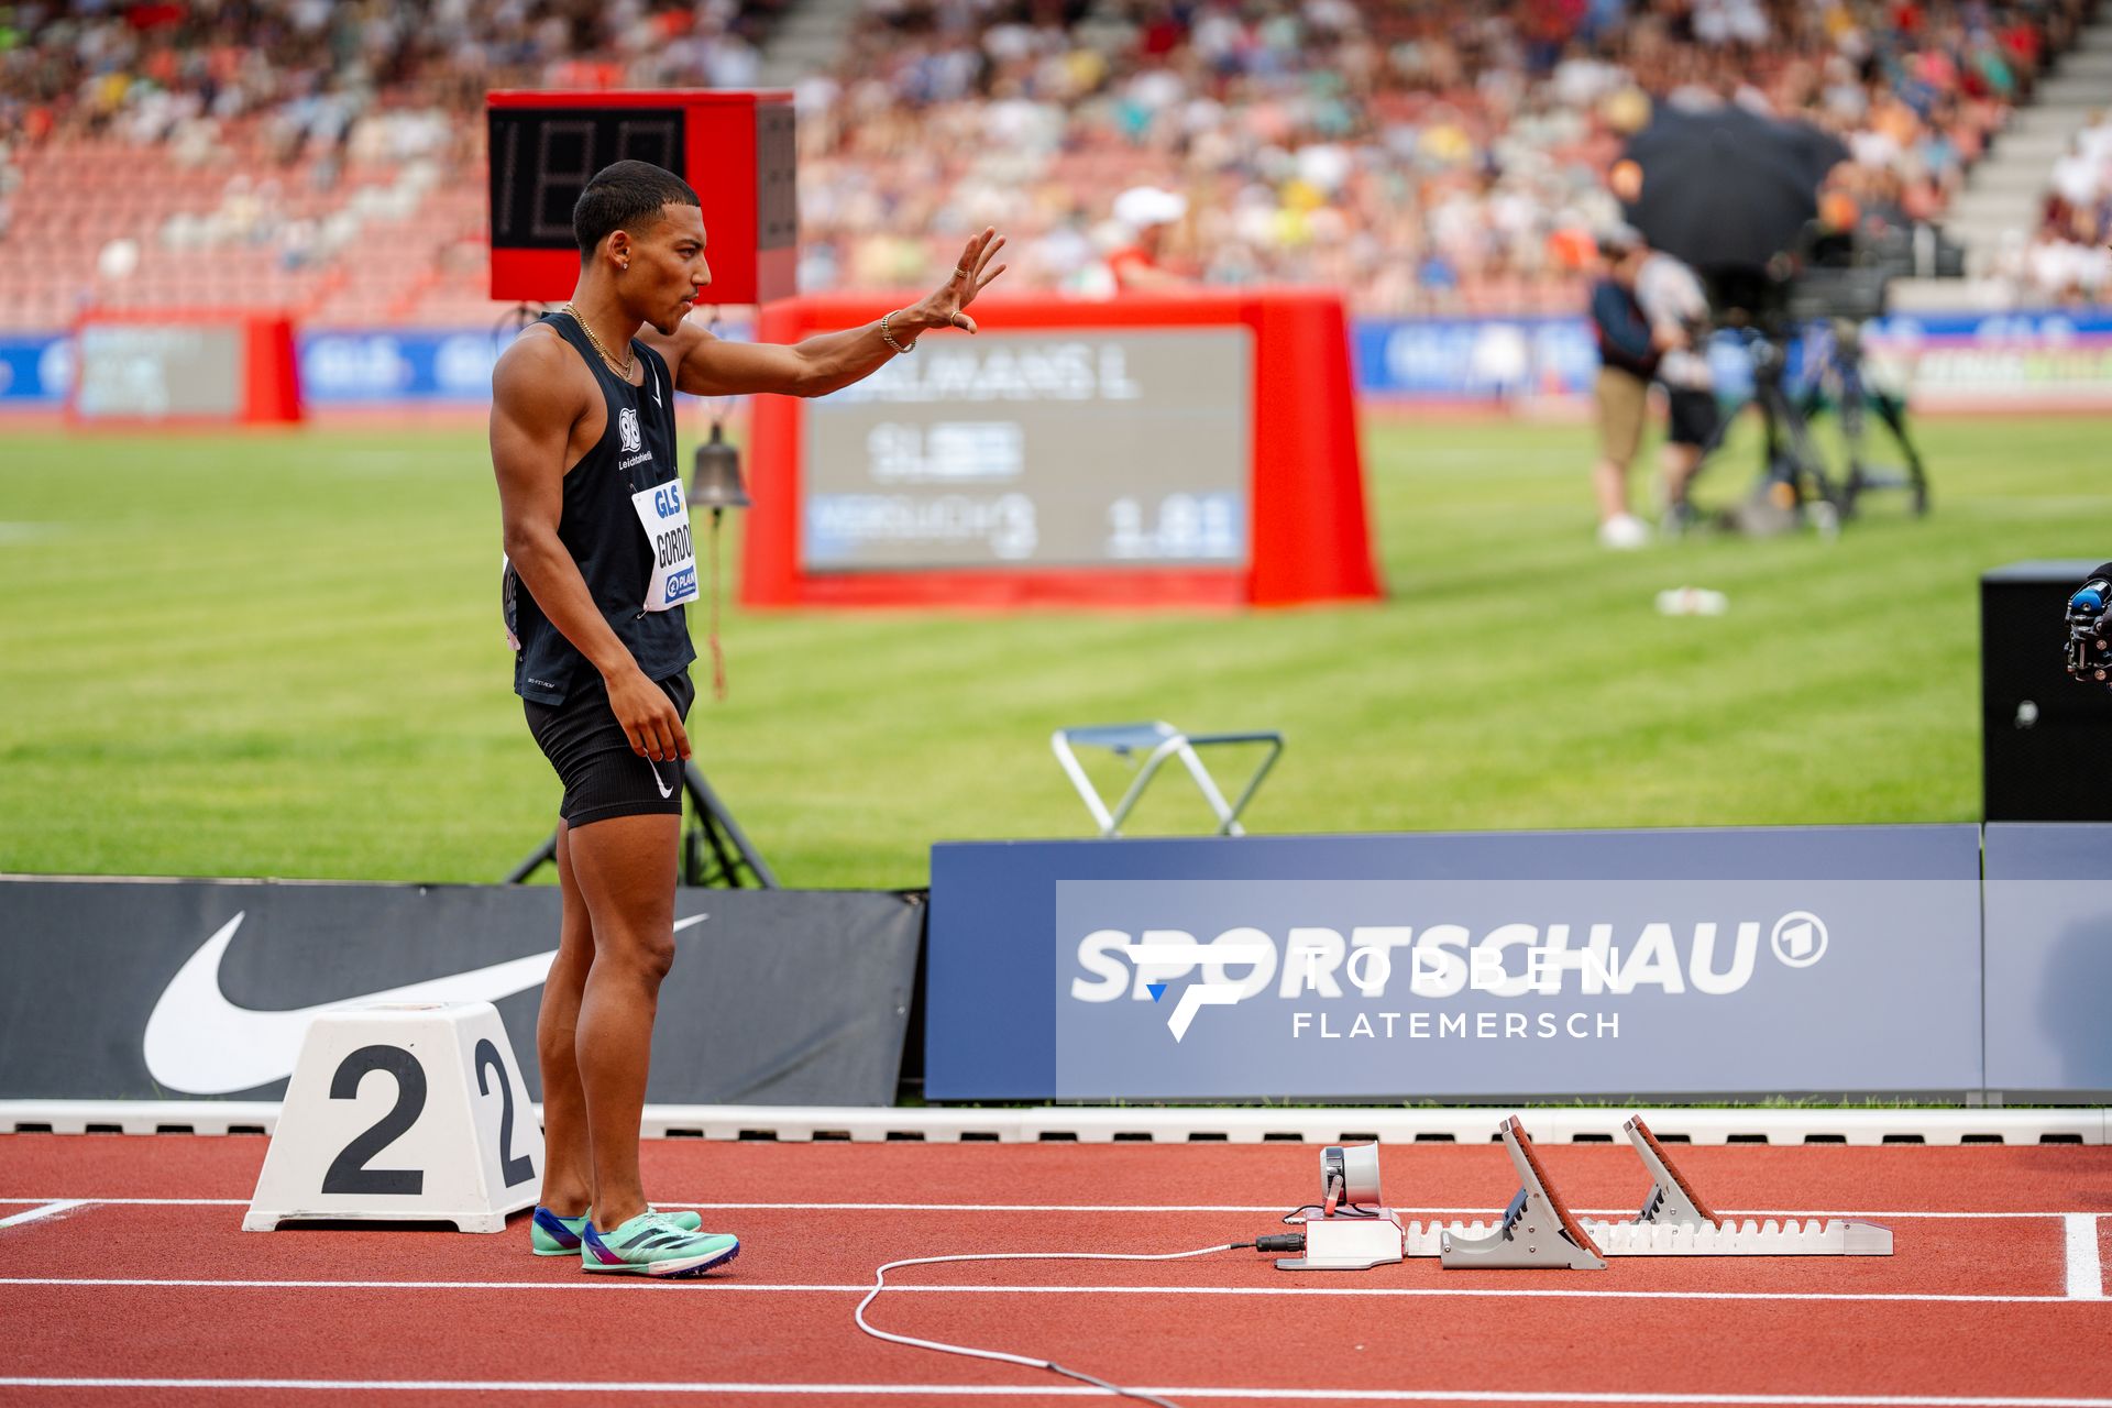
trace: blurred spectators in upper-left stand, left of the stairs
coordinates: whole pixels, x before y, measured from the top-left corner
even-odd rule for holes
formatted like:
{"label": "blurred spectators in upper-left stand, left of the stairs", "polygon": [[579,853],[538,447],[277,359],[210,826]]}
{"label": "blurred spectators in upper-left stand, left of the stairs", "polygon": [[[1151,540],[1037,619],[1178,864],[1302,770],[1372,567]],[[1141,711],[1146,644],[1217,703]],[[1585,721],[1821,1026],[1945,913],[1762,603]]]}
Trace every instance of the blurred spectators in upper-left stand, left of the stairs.
{"label": "blurred spectators in upper-left stand, left of the stairs", "polygon": [[226,198],[201,222],[285,243],[294,262],[327,258],[327,230],[291,217],[291,182],[332,192],[346,167],[403,167],[406,201],[482,186],[488,89],[754,87],[758,44],[788,4],[0,4],[0,239],[23,150],[91,137],[156,148],[177,169],[226,167]]}

